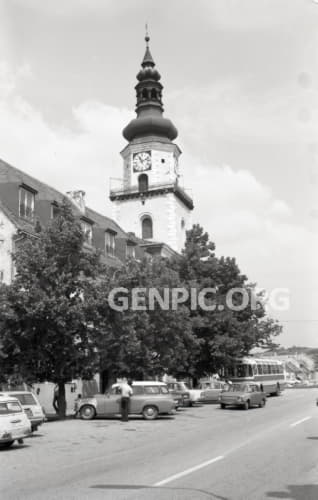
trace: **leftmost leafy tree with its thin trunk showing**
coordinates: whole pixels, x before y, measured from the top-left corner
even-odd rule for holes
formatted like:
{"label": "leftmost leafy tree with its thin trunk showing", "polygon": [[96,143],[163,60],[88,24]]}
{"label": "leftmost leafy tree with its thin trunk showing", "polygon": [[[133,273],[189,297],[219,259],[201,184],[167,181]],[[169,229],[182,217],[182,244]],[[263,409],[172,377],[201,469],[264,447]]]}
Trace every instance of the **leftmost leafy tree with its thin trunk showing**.
{"label": "leftmost leafy tree with its thin trunk showing", "polygon": [[67,201],[47,228],[37,227],[34,237],[20,242],[15,280],[2,289],[3,365],[25,382],[57,384],[64,417],[65,383],[92,376],[98,364],[86,299],[101,268],[99,255],[84,251],[81,226]]}

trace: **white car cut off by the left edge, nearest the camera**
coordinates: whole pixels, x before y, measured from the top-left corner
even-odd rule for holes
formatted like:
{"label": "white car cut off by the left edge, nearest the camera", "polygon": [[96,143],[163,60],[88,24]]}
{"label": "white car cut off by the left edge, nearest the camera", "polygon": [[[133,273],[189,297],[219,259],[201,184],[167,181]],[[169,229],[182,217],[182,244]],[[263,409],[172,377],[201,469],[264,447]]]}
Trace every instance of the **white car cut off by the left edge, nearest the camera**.
{"label": "white car cut off by the left edge, nearest the camera", "polygon": [[0,396],[0,447],[9,448],[14,441],[23,443],[31,434],[31,422],[20,402],[10,396]]}

